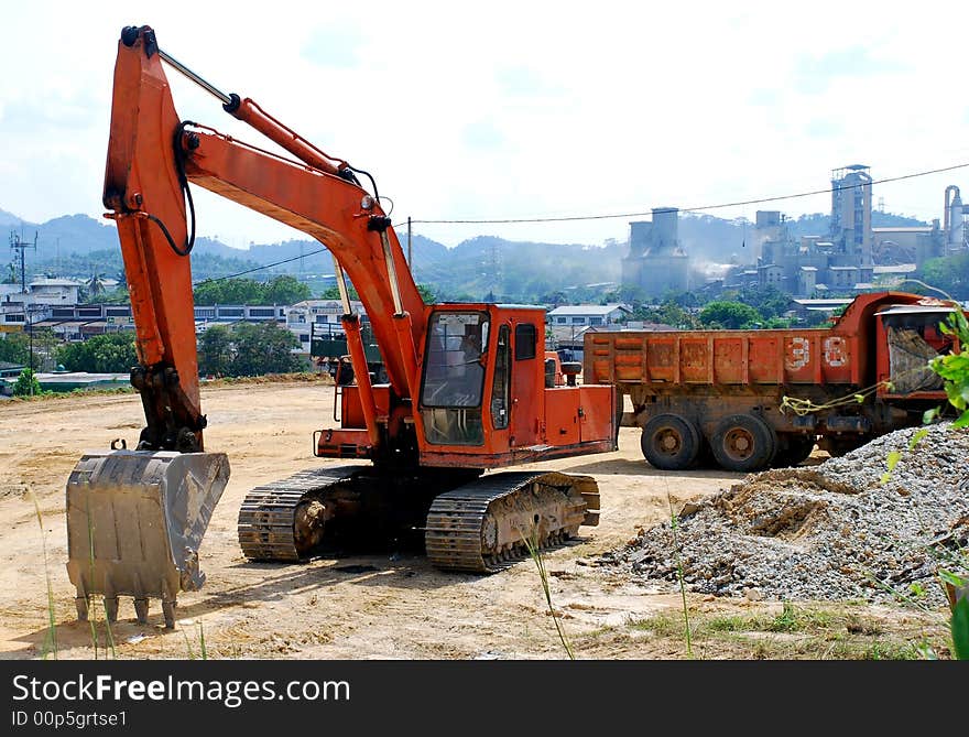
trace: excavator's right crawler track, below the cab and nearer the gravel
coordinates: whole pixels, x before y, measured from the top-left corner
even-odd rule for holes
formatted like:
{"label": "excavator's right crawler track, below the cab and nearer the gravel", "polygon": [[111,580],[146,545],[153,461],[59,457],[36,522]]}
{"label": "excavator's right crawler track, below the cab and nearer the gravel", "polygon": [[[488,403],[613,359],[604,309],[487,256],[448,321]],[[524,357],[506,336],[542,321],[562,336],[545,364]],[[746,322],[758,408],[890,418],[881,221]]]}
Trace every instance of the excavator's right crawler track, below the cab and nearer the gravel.
{"label": "excavator's right crawler track, below the cab and nearer the gravel", "polygon": [[590,476],[494,474],[442,494],[427,513],[425,548],[444,571],[496,573],[598,524],[599,489]]}

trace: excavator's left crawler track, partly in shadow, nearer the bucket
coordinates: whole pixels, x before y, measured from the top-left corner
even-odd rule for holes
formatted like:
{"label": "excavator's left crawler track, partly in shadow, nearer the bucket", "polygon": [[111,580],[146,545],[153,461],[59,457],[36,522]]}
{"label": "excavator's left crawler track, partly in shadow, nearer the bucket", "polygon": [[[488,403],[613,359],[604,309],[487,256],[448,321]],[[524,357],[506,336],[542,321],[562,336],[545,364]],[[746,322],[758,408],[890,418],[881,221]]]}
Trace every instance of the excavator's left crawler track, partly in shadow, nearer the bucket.
{"label": "excavator's left crawler track, partly in shadow, nearer the bucket", "polygon": [[[352,479],[369,466],[339,466],[301,470],[287,478],[258,486],[242,500],[239,509],[239,545],[252,561],[301,561],[315,546],[308,531],[297,520],[304,513],[325,514],[322,500],[326,492]],[[316,508],[309,507],[318,502]],[[322,534],[325,519],[315,520]]]}

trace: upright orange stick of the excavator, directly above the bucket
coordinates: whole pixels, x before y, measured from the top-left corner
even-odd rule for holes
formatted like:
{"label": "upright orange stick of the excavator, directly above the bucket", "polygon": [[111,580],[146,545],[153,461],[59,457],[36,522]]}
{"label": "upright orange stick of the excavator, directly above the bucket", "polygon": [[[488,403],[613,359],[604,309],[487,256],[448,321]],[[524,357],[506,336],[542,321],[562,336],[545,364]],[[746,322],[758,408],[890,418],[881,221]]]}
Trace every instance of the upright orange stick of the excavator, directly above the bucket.
{"label": "upright orange stick of the excavator, directly above the bucket", "polygon": [[[126,29],[119,48],[128,48]],[[118,226],[131,295],[140,392],[146,426],[139,449],[202,451],[205,416],[198,400],[195,311],[186,218],[190,192],[174,145],[181,122],[172,104],[153,33],[141,45],[154,64],[119,53],[115,67],[105,207]]]}

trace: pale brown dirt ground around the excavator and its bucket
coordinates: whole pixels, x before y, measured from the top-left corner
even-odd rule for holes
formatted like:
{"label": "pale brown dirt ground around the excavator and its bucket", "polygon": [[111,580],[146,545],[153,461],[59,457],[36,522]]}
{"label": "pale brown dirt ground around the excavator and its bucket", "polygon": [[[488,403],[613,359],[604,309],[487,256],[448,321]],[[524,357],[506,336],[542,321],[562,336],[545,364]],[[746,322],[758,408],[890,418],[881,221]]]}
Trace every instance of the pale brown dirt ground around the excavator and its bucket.
{"label": "pale brown dirt ground around the excavator and its bucket", "polygon": [[[179,596],[174,631],[163,628],[157,601],[145,626],[137,624],[130,599],[122,599],[110,630],[102,611],[95,613],[94,631],[77,622],[65,567],[67,477],[85,449],[104,449],[115,437],[133,445],[142,425],[138,395],[0,403],[0,657],[51,650],[48,581],[59,658],[567,657],[532,561],[492,576],[443,574],[414,552],[248,563],[236,540],[241,499],[253,486],[328,463],[312,456],[311,437],[333,424],[333,388],[207,387],[203,402],[206,446],[228,453],[232,474],[200,551],[208,579],[200,592]],[[678,510],[740,476],[654,470],[634,429],[620,432],[616,453],[535,467],[590,474],[602,495],[600,525],[583,528],[579,541],[545,556],[553,605],[578,658],[904,658],[918,657],[919,643],[945,655],[938,613],[696,595],[687,597],[694,630],[687,646],[678,590],[630,583],[588,563],[638,527],[668,519],[667,499]]]}

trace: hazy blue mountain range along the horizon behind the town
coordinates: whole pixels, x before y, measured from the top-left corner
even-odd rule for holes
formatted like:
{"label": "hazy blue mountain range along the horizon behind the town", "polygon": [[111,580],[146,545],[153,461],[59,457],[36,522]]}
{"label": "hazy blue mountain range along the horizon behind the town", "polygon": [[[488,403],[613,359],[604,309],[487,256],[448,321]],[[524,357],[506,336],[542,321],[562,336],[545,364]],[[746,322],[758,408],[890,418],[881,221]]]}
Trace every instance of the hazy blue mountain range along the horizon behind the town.
{"label": "hazy blue mountain range along the horizon behind the town", "polygon": [[[788,227],[794,237],[821,235],[827,232],[828,223],[827,215],[815,214],[791,219]],[[926,225],[879,212],[872,213],[872,224]],[[33,243],[36,234],[36,251],[25,253],[29,277],[48,273],[86,279],[95,272],[113,277],[122,268],[115,226],[86,215],[65,215],[33,224],[0,209],[0,228],[10,231],[11,240],[20,237],[29,243]],[[743,218],[730,220],[692,214],[679,217],[679,239],[698,262],[747,262],[744,249],[751,247],[752,237],[753,225]],[[399,234],[399,238],[406,250],[406,236]],[[320,248],[317,241],[307,239],[238,249],[199,237],[193,251],[193,275],[202,280],[259,269],[247,275],[259,279],[290,273],[311,282],[318,291],[326,283],[324,275],[333,273],[329,253],[313,253]],[[555,293],[564,293],[573,301],[588,300],[618,284],[627,250],[625,242],[616,240],[603,245],[545,243],[494,236],[477,236],[448,248],[416,235],[412,239],[412,271],[415,281],[449,300],[547,302],[543,297]]]}

